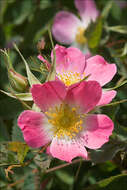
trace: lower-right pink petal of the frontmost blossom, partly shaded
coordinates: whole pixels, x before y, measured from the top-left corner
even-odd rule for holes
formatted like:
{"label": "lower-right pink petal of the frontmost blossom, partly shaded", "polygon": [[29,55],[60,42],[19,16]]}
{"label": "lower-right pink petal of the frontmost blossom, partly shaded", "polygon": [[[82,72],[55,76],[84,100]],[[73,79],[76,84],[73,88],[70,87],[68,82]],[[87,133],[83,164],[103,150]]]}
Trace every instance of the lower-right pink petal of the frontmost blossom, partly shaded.
{"label": "lower-right pink petal of the frontmost blossom, partly shaded", "polygon": [[85,120],[86,128],[81,134],[84,146],[97,149],[108,142],[114,124],[106,115],[88,115]]}

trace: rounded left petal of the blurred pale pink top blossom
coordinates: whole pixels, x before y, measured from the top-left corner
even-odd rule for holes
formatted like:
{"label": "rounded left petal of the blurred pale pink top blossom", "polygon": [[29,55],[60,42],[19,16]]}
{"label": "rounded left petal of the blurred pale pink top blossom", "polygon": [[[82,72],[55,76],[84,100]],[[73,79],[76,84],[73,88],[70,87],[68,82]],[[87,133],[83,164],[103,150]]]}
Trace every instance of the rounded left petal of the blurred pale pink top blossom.
{"label": "rounded left petal of the blurred pale pink top blossom", "polygon": [[80,20],[74,14],[60,11],[54,19],[52,27],[53,36],[60,43],[71,44],[75,40],[77,27],[80,25]]}

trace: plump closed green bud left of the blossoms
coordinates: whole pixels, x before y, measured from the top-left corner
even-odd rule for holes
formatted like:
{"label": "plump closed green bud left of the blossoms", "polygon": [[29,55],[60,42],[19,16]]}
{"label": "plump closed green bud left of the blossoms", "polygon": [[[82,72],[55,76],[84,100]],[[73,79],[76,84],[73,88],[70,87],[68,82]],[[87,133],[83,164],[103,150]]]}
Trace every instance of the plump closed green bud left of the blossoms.
{"label": "plump closed green bud left of the blossoms", "polygon": [[8,78],[13,90],[17,92],[26,92],[28,90],[27,78],[15,72],[13,69],[8,70]]}

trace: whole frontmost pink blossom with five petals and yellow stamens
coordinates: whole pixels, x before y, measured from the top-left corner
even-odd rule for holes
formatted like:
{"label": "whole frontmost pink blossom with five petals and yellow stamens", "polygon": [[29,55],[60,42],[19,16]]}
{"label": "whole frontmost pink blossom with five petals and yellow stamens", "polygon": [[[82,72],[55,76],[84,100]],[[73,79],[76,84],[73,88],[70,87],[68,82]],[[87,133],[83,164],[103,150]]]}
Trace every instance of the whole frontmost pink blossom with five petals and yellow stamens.
{"label": "whole frontmost pink blossom with five petals and yellow stamens", "polygon": [[26,143],[39,148],[51,142],[50,154],[71,162],[85,159],[90,149],[100,148],[112,134],[113,122],[103,114],[90,114],[101,99],[96,81],[83,81],[68,89],[61,81],[36,84],[31,88],[34,103],[42,112],[26,110],[18,118]]}

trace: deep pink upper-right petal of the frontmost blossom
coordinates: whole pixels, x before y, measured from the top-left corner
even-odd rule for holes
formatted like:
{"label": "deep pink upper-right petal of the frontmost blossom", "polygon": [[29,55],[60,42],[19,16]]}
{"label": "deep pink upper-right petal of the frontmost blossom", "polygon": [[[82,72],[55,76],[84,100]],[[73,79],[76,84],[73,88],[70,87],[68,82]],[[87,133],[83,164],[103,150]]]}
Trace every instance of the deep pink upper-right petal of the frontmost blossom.
{"label": "deep pink upper-right petal of the frontmost blossom", "polygon": [[83,81],[69,87],[66,101],[78,105],[84,113],[92,110],[99,102],[102,94],[101,86],[96,81]]}

